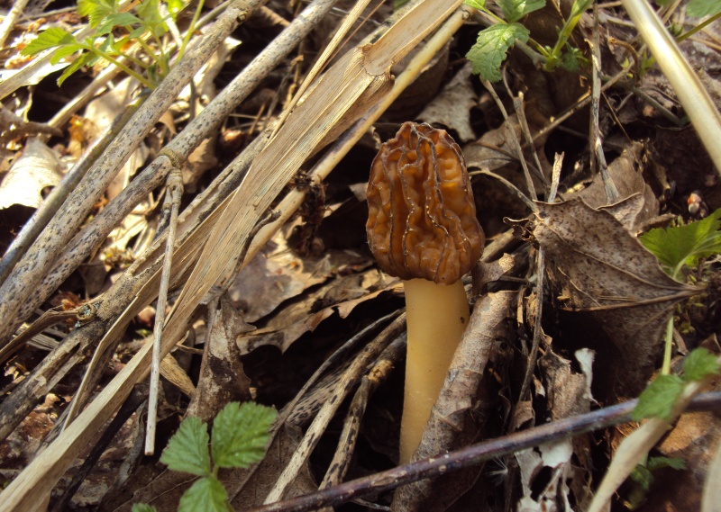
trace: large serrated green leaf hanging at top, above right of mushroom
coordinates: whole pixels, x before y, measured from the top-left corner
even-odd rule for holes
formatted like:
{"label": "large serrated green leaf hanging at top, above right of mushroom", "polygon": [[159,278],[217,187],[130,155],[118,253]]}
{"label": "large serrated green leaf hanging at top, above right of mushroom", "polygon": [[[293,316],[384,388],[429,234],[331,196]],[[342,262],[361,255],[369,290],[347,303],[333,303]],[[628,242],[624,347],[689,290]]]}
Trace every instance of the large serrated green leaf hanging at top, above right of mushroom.
{"label": "large serrated green leaf hanging at top, above right of mushroom", "polygon": [[473,73],[483,80],[497,82],[501,79],[501,63],[506,59],[507,51],[516,40],[528,40],[530,32],[518,23],[497,24],[479,31],[476,40],[466,58],[473,63]]}

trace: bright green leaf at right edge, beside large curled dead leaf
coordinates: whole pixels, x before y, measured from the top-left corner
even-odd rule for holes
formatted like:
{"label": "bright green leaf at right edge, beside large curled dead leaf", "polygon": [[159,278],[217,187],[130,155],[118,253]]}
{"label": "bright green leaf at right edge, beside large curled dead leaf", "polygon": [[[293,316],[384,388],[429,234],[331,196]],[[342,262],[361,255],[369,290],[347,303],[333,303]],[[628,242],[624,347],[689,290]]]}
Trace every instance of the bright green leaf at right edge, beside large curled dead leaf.
{"label": "bright green leaf at right edge, beside large curled dead leaf", "polygon": [[672,276],[682,265],[694,266],[699,257],[721,252],[721,209],[706,219],[676,228],[652,229],[641,236],[641,243],[650,250]]}

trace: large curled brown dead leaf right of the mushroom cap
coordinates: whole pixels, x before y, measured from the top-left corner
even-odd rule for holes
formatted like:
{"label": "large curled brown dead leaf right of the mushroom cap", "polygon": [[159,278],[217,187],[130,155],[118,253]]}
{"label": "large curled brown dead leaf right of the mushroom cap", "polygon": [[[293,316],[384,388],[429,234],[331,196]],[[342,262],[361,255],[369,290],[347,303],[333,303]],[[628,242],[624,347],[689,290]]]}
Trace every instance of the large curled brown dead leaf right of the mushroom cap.
{"label": "large curled brown dead leaf right of the mushroom cap", "polygon": [[546,251],[557,299],[583,320],[580,336],[610,357],[611,386],[635,395],[653,373],[672,307],[698,290],[671,279],[613,215],[581,200],[538,203],[525,229]]}

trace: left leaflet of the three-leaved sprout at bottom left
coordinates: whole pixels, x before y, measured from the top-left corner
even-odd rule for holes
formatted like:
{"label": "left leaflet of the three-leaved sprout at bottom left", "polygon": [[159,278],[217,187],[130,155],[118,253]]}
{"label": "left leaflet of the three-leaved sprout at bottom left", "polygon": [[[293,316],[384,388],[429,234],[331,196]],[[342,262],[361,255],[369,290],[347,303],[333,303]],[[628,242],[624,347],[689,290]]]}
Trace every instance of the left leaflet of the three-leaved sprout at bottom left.
{"label": "left leaflet of the three-leaved sprout at bottom left", "polygon": [[200,418],[186,418],[170,438],[160,462],[176,472],[205,476],[210,474],[208,429]]}

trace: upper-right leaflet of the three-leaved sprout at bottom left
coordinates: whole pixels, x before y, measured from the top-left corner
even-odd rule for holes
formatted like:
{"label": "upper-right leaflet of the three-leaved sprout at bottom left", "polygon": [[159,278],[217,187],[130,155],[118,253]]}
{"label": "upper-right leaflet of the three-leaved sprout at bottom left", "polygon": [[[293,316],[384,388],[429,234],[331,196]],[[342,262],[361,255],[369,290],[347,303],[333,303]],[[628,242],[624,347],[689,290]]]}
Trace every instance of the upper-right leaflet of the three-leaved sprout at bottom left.
{"label": "upper-right leaflet of the three-leaved sprout at bottom left", "polygon": [[213,422],[213,462],[222,468],[247,468],[259,462],[268,444],[276,411],[253,402],[231,402]]}

